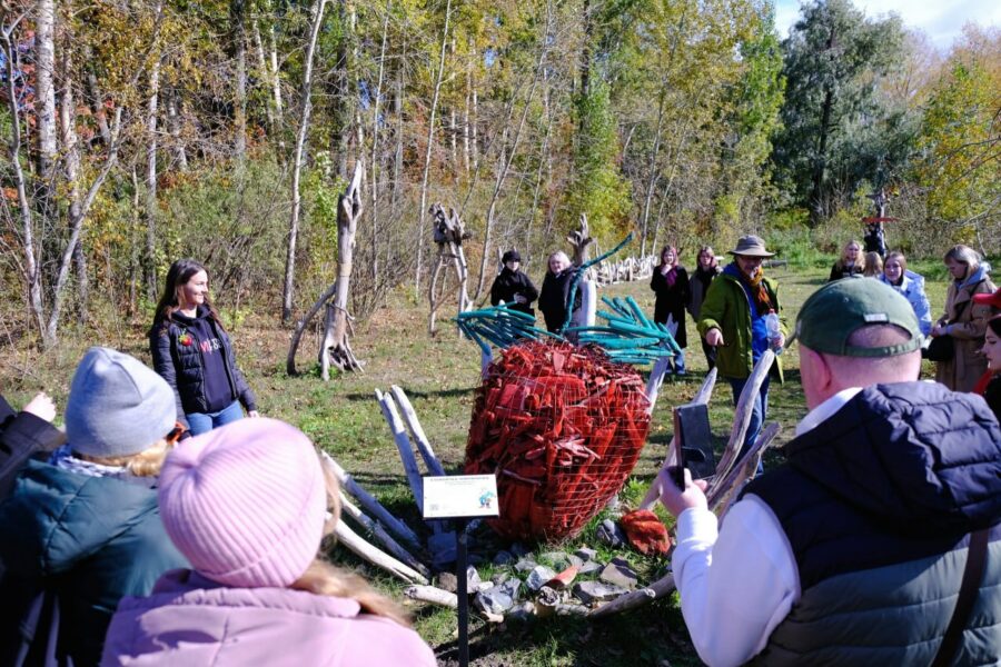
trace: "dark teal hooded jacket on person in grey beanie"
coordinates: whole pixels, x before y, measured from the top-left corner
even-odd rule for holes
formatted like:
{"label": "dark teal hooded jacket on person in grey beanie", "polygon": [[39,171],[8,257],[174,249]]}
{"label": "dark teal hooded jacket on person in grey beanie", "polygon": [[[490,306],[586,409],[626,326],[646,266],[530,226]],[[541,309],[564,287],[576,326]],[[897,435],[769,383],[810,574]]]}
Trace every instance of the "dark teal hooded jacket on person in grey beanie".
{"label": "dark teal hooded jacket on person in grey beanie", "polygon": [[[27,618],[37,591],[59,599],[58,655],[97,665],[118,601],[145,596],[165,571],[189,567],[138,484],[29,461],[0,504],[0,645]],[[44,638],[36,637],[36,645]]]}

